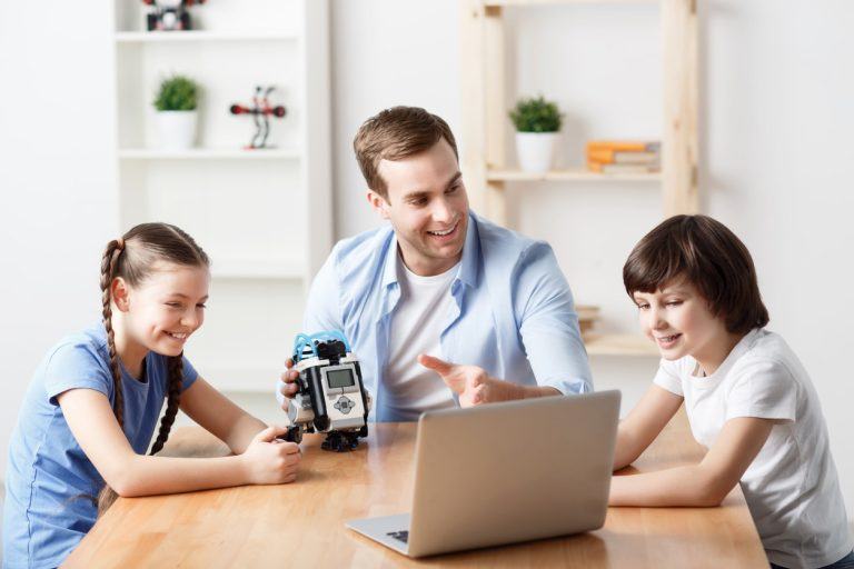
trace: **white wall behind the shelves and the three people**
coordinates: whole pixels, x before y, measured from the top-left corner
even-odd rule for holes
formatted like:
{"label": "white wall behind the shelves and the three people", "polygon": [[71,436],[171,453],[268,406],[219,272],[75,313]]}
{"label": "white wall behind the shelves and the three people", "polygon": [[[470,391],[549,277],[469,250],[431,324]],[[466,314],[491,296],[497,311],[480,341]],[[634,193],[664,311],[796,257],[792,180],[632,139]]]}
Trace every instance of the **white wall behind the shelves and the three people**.
{"label": "white wall behind the shelves and the three people", "polygon": [[[336,232],[344,237],[378,224],[365,206],[350,150],[365,118],[391,104],[419,104],[459,130],[458,6],[456,0],[332,0],[331,7]],[[656,37],[654,12],[623,8],[626,17],[617,17],[619,7],[602,8],[617,14],[609,19],[590,7],[543,8],[514,28],[520,44],[515,84],[556,93],[574,127],[566,138],[567,161],[582,137],[606,129],[655,134],[647,131],[659,117],[653,103],[657,48],[633,31],[636,26]],[[718,0],[701,2],[701,8],[705,211],[729,224],[753,251],[771,328],[802,357],[822,398],[853,512],[854,441],[846,437],[851,387],[844,355],[854,340],[854,305],[847,300],[854,278],[848,220],[854,209],[854,6],[846,0],[825,0],[821,9],[806,0],[785,8],[771,0]],[[594,28],[597,21],[607,30]],[[113,130],[103,111],[110,106],[109,28],[106,10],[59,3],[47,18],[40,4],[0,3],[3,457],[23,390],[44,350],[98,317],[98,257],[118,231],[111,217]],[[526,36],[532,29],[543,38]],[[583,36],[585,29],[602,30],[598,46],[614,51],[599,50]],[[634,42],[625,42],[635,32]],[[608,42],[608,34],[623,43]],[[525,50],[538,49],[540,40],[555,50],[547,67],[525,59]],[[626,48],[637,58],[628,66],[625,57],[615,57]],[[585,57],[573,57],[580,49]],[[597,69],[610,69],[597,61],[616,69],[597,74]],[[634,87],[639,83],[636,67],[649,74],[643,92]],[[516,222],[552,241],[576,293],[603,303],[607,327],[630,330],[619,267],[656,221],[656,189],[556,184],[512,193],[519,210]],[[579,226],[565,230],[540,223],[542,212],[557,206]],[[604,221],[608,231],[582,226],[588,208],[609,212]],[[655,369],[644,358],[598,358],[593,366],[597,387],[623,388],[627,405]],[[269,412],[260,407],[262,415]]]}

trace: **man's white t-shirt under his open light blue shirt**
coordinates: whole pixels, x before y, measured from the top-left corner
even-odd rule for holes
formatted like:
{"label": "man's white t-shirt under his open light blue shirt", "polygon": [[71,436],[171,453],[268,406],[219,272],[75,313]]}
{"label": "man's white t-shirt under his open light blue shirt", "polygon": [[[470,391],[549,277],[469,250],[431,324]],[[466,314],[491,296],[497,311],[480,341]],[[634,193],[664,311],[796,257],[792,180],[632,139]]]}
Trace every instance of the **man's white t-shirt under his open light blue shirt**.
{"label": "man's white t-shirt under his open light blue shirt", "polygon": [[396,421],[416,421],[423,411],[456,407],[454,393],[418,355],[441,357],[439,337],[455,302],[450,283],[459,263],[435,277],[420,277],[397,256],[400,299],[391,313],[388,365],[384,375],[384,406]]}

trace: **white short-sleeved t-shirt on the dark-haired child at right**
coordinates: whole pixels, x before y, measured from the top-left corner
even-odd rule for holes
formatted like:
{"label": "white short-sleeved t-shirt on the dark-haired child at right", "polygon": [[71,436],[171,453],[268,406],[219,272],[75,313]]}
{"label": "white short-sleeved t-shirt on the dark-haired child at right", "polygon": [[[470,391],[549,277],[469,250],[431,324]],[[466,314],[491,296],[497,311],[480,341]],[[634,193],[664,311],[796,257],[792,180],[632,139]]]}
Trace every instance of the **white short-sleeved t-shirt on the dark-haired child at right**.
{"label": "white short-sleeved t-shirt on the dark-haired child at right", "polygon": [[765,446],[741,480],[753,521],[773,563],[822,567],[854,543],[827,428],[810,376],[778,335],[747,333],[708,377],[686,356],[662,360],[655,383],[685,398],[691,430],[711,448],[736,417],[775,419]]}

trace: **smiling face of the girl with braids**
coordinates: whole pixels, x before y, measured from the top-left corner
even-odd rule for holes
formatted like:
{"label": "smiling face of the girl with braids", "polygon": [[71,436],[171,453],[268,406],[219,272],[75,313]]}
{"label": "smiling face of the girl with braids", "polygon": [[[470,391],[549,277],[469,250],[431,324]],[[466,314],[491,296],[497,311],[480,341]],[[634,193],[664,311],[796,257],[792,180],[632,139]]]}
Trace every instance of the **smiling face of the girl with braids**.
{"label": "smiling face of the girl with braids", "polygon": [[133,348],[179,356],[187,339],[205,321],[210,273],[207,267],[167,262],[158,262],[152,269],[138,287],[127,288],[117,279],[116,306],[123,312]]}

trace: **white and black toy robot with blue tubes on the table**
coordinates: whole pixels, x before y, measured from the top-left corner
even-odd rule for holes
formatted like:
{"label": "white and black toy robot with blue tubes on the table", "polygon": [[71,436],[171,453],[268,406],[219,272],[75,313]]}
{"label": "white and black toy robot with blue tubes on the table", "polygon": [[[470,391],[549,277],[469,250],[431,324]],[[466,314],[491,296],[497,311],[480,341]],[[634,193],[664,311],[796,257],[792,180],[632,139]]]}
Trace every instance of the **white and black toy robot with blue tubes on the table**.
{"label": "white and black toy robot with blue tubes on the table", "polygon": [[371,398],[361,381],[359,360],[341,332],[298,335],[294,363],[299,390],[288,400],[292,427],[286,440],[300,442],[304,432],[326,432],[324,450],[344,452],[368,436]]}

